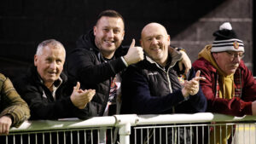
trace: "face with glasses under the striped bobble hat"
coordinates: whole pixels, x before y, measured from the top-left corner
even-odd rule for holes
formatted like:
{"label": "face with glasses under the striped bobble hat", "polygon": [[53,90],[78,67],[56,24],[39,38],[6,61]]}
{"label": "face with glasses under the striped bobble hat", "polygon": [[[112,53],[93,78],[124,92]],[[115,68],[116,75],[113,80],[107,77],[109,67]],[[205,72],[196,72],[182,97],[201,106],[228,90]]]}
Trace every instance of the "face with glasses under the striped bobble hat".
{"label": "face with glasses under the striped bobble hat", "polygon": [[240,64],[243,52],[225,51],[220,53],[212,53],[216,60],[218,67],[227,75],[236,72],[237,67]]}

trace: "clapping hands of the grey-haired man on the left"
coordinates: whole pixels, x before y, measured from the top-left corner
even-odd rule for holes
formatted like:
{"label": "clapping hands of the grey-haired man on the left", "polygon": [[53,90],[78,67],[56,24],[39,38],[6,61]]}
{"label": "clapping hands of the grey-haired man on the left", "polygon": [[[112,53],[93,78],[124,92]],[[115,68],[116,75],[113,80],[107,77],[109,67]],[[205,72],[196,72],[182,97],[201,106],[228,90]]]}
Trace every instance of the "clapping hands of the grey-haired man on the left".
{"label": "clapping hands of the grey-haired man on the left", "polygon": [[84,109],[84,107],[86,107],[87,103],[91,101],[95,94],[95,89],[80,89],[80,83],[78,82],[77,85],[73,87],[73,93],[70,96],[70,99],[75,107]]}

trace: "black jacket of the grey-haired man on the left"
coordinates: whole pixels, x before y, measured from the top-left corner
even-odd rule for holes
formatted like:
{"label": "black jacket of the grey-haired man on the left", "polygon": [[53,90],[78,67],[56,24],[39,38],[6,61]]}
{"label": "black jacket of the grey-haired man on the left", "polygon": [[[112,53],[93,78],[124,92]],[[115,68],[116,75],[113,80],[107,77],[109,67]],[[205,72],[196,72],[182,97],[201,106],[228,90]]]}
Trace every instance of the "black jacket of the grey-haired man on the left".
{"label": "black jacket of the grey-haired man on the left", "polygon": [[67,81],[63,72],[62,84],[55,92],[55,101],[40,79],[37,68],[33,66],[26,75],[16,78],[14,82],[15,89],[31,109],[31,119],[87,118],[84,110],[75,107],[70,100],[73,83]]}

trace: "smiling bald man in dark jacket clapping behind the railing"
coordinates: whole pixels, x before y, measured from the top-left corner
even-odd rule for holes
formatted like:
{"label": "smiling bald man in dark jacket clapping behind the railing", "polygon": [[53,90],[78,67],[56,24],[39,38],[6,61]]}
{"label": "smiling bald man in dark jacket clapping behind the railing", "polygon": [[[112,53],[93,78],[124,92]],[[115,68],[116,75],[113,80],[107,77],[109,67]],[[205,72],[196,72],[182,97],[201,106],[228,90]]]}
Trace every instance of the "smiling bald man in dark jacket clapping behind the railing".
{"label": "smiling bald man in dark jacket clapping behind the railing", "polygon": [[[121,113],[205,112],[207,101],[199,85],[204,78],[193,68],[186,74],[180,72],[177,61],[181,55],[168,55],[170,44],[170,36],[164,26],[158,23],[144,26],[141,45],[146,56],[124,73]],[[168,141],[172,141],[172,137],[168,137]]]}

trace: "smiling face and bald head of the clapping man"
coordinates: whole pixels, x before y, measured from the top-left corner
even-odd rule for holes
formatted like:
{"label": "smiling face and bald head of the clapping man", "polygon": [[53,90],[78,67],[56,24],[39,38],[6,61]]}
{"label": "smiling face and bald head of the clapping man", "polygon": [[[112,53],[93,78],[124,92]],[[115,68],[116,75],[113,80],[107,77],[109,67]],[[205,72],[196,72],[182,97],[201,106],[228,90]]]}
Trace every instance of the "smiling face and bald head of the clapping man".
{"label": "smiling face and bald head of the clapping man", "polygon": [[145,26],[142,32],[141,45],[151,59],[161,66],[166,65],[170,36],[164,26],[157,23],[150,23]]}

